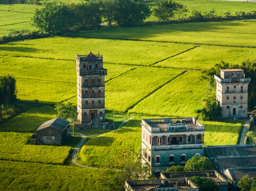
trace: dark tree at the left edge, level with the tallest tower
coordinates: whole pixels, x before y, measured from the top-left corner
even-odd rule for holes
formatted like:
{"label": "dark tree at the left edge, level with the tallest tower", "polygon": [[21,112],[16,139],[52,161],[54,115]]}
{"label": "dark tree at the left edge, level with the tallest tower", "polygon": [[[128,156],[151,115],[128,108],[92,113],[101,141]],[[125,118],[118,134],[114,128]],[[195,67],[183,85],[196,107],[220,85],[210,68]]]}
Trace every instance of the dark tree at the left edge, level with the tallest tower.
{"label": "dark tree at the left edge, level with the tallest tower", "polygon": [[0,76],[0,105],[11,105],[17,100],[16,80],[14,77]]}

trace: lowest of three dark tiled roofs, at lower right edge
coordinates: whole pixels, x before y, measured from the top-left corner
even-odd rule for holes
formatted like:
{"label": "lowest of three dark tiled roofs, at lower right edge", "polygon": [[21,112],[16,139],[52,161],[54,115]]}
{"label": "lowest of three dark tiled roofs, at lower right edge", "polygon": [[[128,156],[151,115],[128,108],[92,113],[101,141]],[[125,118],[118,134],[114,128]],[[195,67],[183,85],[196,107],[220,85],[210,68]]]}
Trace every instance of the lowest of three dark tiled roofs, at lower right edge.
{"label": "lowest of three dark tiled roofs, at lower right edge", "polygon": [[233,180],[241,180],[245,175],[248,175],[250,178],[256,179],[256,167],[252,168],[230,168],[228,169]]}

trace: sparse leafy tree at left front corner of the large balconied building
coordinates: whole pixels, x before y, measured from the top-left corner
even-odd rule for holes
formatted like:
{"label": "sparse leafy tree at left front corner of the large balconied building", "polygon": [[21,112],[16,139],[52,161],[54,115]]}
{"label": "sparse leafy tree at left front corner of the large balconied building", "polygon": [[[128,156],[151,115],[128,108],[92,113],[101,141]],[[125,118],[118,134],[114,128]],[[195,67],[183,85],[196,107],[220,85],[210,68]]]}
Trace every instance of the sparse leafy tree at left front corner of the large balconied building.
{"label": "sparse leafy tree at left front corner of the large balconied building", "polygon": [[[142,165],[142,151],[126,149],[118,152],[112,159],[105,162],[101,184],[110,190],[124,190],[126,180],[153,178],[152,168]],[[120,170],[114,170],[119,168]],[[113,170],[110,170],[113,169]]]}

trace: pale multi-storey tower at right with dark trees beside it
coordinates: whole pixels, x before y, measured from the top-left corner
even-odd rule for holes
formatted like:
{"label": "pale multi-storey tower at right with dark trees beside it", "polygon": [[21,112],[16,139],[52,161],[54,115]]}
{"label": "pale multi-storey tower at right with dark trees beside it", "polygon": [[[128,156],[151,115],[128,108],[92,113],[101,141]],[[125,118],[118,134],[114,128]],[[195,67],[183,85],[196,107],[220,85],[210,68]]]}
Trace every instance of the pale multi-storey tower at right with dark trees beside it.
{"label": "pale multi-storey tower at right with dark trees beside it", "polygon": [[247,117],[249,76],[242,69],[221,70],[214,75],[216,80],[216,100],[222,107],[222,118]]}

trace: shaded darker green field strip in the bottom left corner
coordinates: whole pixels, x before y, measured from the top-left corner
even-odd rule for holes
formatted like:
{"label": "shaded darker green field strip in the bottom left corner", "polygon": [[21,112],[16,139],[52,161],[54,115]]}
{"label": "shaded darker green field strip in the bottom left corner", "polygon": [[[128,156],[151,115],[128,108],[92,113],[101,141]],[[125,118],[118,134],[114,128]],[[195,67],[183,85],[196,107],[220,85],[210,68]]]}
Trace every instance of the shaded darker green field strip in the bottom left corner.
{"label": "shaded darker green field strip in the bottom left corner", "polygon": [[1,161],[0,190],[106,190],[100,185],[100,173],[79,167]]}

